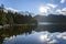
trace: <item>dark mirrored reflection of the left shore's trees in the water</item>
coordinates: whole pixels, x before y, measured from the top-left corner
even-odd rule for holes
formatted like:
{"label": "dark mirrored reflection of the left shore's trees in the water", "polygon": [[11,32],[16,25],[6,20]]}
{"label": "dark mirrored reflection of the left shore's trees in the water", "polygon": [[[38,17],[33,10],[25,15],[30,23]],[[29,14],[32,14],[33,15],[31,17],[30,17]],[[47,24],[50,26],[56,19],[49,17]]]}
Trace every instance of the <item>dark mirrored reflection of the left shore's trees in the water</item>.
{"label": "dark mirrored reflection of the left shore's trees in the water", "polygon": [[12,40],[19,34],[26,33],[31,34],[35,30],[36,25],[21,25],[21,26],[9,26],[0,29],[0,44],[3,43],[4,38]]}

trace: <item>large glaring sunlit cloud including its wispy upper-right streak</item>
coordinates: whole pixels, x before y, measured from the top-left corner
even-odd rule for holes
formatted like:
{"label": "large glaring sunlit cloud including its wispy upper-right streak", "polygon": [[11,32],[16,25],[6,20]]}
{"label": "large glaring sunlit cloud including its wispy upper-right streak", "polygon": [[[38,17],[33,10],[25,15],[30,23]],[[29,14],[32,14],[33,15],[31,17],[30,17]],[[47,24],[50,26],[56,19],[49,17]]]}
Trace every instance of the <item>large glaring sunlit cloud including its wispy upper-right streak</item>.
{"label": "large glaring sunlit cloud including its wispy upper-right streak", "polygon": [[52,13],[53,9],[55,9],[57,7],[57,4],[54,3],[47,3],[46,6],[41,6],[38,8],[38,11],[43,14],[43,15],[47,15],[48,13]]}

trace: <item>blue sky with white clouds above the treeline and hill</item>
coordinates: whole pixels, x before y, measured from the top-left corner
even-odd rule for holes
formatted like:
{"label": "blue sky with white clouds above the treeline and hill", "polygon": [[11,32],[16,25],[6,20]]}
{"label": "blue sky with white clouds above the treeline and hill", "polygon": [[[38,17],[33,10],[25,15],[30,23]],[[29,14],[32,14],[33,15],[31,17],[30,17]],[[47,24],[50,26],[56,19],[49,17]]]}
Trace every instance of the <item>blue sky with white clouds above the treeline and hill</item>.
{"label": "blue sky with white clouds above the treeline and hill", "polygon": [[66,0],[0,0],[1,3],[7,9],[29,11],[36,14],[66,12]]}

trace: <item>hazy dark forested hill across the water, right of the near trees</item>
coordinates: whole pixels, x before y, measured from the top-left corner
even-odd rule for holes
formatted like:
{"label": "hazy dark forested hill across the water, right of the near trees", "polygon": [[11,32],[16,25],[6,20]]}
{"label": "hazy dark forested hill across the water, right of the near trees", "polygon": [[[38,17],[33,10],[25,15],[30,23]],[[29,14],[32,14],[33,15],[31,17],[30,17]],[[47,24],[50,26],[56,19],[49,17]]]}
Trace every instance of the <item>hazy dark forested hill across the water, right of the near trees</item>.
{"label": "hazy dark forested hill across the water, right of the near trees", "polygon": [[66,15],[64,14],[35,15],[34,18],[38,22],[66,23]]}

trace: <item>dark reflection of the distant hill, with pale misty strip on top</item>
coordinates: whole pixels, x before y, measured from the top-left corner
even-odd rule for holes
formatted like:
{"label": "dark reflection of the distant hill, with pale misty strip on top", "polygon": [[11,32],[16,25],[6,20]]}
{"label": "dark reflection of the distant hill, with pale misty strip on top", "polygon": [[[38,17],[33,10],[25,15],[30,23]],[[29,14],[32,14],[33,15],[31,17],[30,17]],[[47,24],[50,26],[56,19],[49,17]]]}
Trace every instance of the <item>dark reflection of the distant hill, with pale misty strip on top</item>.
{"label": "dark reflection of the distant hill, with pale misty strip on top", "polygon": [[48,31],[48,32],[64,32],[66,31],[66,23],[43,23],[41,22],[36,31]]}

